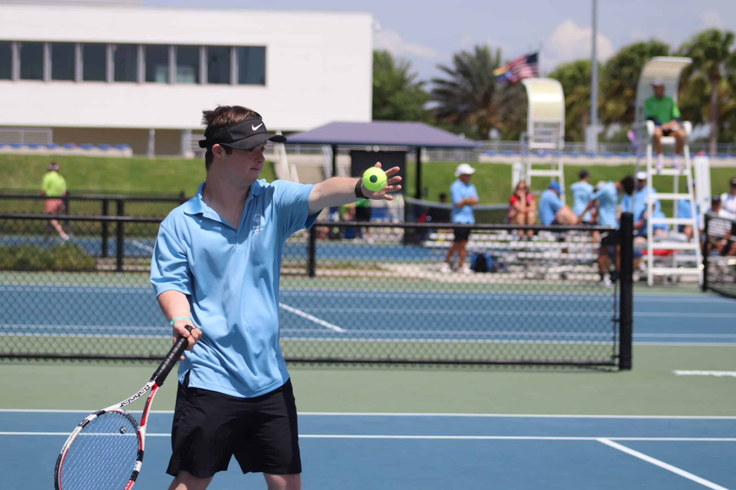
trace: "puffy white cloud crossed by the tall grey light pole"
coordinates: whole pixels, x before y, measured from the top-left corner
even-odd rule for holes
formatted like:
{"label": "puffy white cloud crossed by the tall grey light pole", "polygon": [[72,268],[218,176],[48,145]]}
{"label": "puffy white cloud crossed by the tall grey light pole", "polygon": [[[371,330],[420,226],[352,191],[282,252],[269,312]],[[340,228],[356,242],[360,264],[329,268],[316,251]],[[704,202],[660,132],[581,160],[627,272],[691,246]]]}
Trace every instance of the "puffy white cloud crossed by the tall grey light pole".
{"label": "puffy white cloud crossed by the tall grey light pole", "polygon": [[[598,60],[606,61],[614,54],[613,43],[598,31],[595,37]],[[581,27],[570,19],[557,24],[552,35],[542,46],[545,70],[553,69],[561,62],[590,58],[592,28]]]}

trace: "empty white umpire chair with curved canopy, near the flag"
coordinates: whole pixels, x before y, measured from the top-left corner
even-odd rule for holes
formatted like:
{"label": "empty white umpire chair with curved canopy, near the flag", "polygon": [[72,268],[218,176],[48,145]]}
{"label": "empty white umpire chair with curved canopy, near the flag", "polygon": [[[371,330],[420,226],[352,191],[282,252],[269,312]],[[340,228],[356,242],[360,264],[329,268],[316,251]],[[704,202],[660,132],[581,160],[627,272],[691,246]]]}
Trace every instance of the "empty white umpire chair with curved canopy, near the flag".
{"label": "empty white umpire chair with curved canopy, near the flag", "polygon": [[[565,94],[562,84],[555,79],[528,78],[521,81],[526,87],[528,100],[526,131],[526,170],[524,179],[531,189],[532,177],[551,177],[559,181],[565,202],[565,177],[562,152],[565,149]],[[523,136],[524,137],[524,136]],[[539,151],[551,153],[551,162],[535,159]],[[549,165],[539,168],[534,165]]]}

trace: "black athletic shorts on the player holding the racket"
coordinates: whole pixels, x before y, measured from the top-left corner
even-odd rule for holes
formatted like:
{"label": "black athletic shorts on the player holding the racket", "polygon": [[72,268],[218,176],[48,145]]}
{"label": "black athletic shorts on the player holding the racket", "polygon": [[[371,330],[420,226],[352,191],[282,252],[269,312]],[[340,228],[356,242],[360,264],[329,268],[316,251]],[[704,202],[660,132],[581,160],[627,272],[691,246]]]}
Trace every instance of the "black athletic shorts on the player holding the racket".
{"label": "black athletic shorts on the player holding the racket", "polygon": [[166,472],[210,478],[235,455],[244,473],[302,472],[297,406],[291,380],[255,398],[233,397],[179,384]]}

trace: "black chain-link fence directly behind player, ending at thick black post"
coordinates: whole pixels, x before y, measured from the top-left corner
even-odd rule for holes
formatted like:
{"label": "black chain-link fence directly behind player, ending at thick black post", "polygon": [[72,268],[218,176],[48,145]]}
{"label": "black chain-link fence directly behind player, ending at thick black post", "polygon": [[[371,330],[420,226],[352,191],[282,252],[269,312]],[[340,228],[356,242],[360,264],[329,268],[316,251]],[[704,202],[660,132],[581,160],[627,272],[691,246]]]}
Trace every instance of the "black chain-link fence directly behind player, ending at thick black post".
{"label": "black chain-link fence directly behind player, ending at thick black post", "polygon": [[[149,285],[160,218],[60,218],[71,223],[68,242],[46,235],[47,215],[0,215],[0,357],[160,357],[171,343]],[[466,268],[445,266],[448,224],[318,222],[283,248],[283,354],[630,369],[624,223],[620,278],[606,285],[591,231],[612,228],[528,226],[534,235],[518,239],[518,227],[455,225],[471,230]]]}

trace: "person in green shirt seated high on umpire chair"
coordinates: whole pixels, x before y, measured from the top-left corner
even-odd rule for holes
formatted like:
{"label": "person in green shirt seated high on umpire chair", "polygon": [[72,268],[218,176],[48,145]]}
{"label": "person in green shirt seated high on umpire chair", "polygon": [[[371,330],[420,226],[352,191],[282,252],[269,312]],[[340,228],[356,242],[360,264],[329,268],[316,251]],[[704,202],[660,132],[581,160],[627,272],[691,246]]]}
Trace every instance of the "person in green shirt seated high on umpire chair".
{"label": "person in green shirt seated high on umpire chair", "polygon": [[665,82],[656,78],[651,82],[654,96],[644,102],[644,117],[654,122],[654,151],[657,152],[657,170],[662,170],[662,136],[675,138],[675,168],[680,167],[680,155],[685,145],[685,130],[680,127],[680,109],[671,97],[665,96]]}

